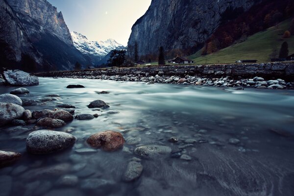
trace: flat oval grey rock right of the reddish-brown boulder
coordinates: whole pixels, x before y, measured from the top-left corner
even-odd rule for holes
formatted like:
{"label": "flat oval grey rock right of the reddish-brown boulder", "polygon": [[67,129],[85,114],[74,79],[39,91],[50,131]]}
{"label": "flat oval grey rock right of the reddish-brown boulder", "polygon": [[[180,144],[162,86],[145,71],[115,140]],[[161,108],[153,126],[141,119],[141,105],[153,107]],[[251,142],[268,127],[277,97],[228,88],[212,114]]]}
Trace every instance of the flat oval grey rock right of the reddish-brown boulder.
{"label": "flat oval grey rock right of the reddish-brown boulder", "polygon": [[143,158],[156,158],[160,155],[166,155],[172,152],[172,149],[167,146],[147,145],[137,147],[135,153]]}

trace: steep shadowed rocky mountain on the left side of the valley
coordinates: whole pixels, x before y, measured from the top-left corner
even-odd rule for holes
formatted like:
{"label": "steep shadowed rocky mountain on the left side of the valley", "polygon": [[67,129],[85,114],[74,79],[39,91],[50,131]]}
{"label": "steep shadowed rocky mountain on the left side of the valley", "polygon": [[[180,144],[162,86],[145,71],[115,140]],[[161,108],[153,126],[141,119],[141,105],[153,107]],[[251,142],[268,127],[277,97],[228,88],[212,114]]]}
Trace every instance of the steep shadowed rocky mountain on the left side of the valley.
{"label": "steep shadowed rocky mountain on the left side of the valley", "polygon": [[[90,64],[90,59],[73,46],[62,13],[47,0],[0,0],[0,9],[8,18],[0,23],[0,29],[8,28],[7,33],[0,32],[0,43],[6,46],[0,56],[16,64],[28,56],[38,70],[42,66],[44,70],[71,70],[76,61]],[[7,56],[9,50],[15,55]]]}

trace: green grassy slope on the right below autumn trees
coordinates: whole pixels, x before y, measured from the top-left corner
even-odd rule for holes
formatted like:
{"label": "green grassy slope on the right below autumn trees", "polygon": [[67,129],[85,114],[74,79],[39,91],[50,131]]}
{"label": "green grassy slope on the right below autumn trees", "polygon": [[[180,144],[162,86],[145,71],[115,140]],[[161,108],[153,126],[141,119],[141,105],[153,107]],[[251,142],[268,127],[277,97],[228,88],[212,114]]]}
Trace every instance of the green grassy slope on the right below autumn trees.
{"label": "green grassy slope on the right below autumn trees", "polygon": [[195,63],[234,63],[236,60],[256,59],[258,62],[270,61],[273,49],[279,52],[284,41],[288,42],[289,54],[294,53],[294,35],[290,38],[281,39],[285,30],[289,29],[292,19],[288,19],[277,27],[270,27],[266,31],[258,32],[245,42],[221,49],[218,52],[206,56],[200,56],[201,51],[189,56]]}

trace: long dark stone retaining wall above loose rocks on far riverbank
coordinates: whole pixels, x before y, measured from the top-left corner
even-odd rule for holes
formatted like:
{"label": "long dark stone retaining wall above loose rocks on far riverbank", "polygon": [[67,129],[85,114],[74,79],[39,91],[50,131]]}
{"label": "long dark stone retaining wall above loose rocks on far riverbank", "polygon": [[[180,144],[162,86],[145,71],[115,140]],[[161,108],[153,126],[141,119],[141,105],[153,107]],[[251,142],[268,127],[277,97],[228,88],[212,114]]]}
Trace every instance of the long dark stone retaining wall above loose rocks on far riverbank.
{"label": "long dark stone retaining wall above loose rocks on far riverbank", "polygon": [[205,76],[209,78],[230,76],[232,78],[253,78],[255,76],[266,79],[282,78],[294,81],[294,62],[291,63],[260,63],[260,64],[225,64],[225,65],[167,65],[149,66],[143,68],[118,68],[107,70],[66,71],[53,73],[39,73],[38,76],[49,77],[85,77],[98,75],[144,75],[155,76]]}

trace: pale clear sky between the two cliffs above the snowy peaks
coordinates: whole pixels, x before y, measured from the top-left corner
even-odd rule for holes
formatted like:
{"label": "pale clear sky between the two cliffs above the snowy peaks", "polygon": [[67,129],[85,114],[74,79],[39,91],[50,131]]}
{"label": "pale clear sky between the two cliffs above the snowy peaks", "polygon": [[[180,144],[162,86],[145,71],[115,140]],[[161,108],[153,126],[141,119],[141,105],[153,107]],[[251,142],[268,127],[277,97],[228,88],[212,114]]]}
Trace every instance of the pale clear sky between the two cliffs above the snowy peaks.
{"label": "pale clear sky between the two cliffs above the snowy peaks", "polygon": [[70,31],[91,41],[109,38],[127,45],[132,25],[145,14],[151,0],[48,0],[61,11]]}

